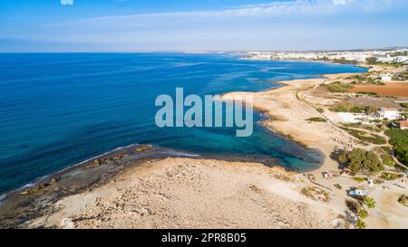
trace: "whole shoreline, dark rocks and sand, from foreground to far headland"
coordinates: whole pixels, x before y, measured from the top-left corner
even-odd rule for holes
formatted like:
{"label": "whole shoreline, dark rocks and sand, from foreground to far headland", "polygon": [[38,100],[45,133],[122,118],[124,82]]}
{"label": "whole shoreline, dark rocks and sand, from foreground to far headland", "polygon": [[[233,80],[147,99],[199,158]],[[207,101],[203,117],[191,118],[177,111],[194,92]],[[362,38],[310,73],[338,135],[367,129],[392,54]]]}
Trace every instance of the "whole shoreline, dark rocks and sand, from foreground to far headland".
{"label": "whole shoreline, dark rocks and sand, from foreground to far headland", "polygon": [[[347,195],[331,183],[352,187],[358,182],[343,176],[329,181],[317,175],[337,169],[331,157],[342,145],[333,137],[354,147],[359,144],[327,123],[307,122],[319,113],[298,95],[307,97],[307,92],[325,80],[349,75],[277,81],[282,86],[220,96],[220,100],[254,96],[253,107],[267,117],[262,121],[265,128],[325,156],[314,171],[287,171],[274,166],[271,159],[268,166],[261,158],[191,157],[166,148],[134,145],[48,176],[35,183],[34,187],[47,185],[33,194],[21,195],[24,188],[13,192],[0,204],[0,228],[348,228]],[[102,165],[94,165],[104,159]],[[54,177],[58,177],[55,182]],[[306,195],[305,190],[316,190],[317,195]],[[378,191],[376,196],[385,198]],[[374,215],[388,217],[383,212]],[[396,214],[393,224],[368,221],[374,228],[404,228],[406,217]]]}

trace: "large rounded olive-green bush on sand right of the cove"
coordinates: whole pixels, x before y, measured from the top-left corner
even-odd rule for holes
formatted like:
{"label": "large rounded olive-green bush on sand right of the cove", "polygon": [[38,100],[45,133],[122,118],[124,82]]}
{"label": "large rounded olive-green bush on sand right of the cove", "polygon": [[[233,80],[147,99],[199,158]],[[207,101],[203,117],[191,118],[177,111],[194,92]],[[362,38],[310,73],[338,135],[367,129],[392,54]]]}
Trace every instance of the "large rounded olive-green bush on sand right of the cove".
{"label": "large rounded olive-green bush on sand right of the cove", "polygon": [[346,163],[347,167],[355,174],[375,175],[384,170],[384,166],[378,156],[371,151],[364,151],[355,148],[353,151],[346,151],[338,157],[341,163]]}

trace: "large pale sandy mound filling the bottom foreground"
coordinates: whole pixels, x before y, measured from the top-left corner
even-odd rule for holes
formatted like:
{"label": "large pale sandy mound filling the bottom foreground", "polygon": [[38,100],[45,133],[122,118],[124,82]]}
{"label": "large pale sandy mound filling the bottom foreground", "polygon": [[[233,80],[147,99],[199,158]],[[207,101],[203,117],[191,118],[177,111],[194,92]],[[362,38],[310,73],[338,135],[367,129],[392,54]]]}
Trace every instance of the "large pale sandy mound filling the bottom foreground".
{"label": "large pale sandy mound filling the bottom foreground", "polygon": [[302,195],[303,180],[255,163],[167,158],[63,198],[28,227],[333,228],[337,213]]}

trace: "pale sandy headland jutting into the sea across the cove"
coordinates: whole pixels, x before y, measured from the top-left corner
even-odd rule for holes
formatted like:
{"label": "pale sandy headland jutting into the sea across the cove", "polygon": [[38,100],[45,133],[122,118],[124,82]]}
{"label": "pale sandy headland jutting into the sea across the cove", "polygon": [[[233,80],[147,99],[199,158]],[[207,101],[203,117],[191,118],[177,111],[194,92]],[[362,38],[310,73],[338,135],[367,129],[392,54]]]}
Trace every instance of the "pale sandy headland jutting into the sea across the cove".
{"label": "pale sandy headland jutting into the sea across the cove", "polygon": [[[316,89],[324,81],[345,78],[350,75],[335,74],[325,75],[325,78],[322,79],[283,81],[281,83],[284,83],[285,86],[281,88],[261,92],[230,92],[222,95],[220,99],[237,100],[240,97],[245,101],[246,97],[252,96],[253,107],[266,112],[272,118],[264,122],[265,126],[306,147],[319,149],[325,155],[324,165],[314,172],[320,173],[323,170],[337,168],[337,162],[331,159],[330,155],[335,147],[343,148],[341,142],[353,145],[357,143],[355,138],[329,123],[307,121],[306,119],[323,116],[305,102],[297,100],[296,92],[302,99],[313,100],[308,98],[307,93]],[[334,138],[338,141],[334,141]]]}

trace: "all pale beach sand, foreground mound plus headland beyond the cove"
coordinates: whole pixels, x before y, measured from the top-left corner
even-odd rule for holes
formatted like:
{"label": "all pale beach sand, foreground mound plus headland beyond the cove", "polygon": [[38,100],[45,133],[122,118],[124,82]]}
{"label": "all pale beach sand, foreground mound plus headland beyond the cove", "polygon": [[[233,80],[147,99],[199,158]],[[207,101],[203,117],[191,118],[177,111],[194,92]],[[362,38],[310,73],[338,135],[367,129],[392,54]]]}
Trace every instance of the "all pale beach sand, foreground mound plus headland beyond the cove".
{"label": "all pale beach sand, foreground mound plus headland beyond the cove", "polygon": [[[166,153],[153,158],[149,156],[151,147],[146,150],[131,147],[131,154],[120,155],[118,160],[115,160],[118,155],[108,157],[103,166],[93,166],[94,161],[83,165],[81,169],[89,173],[86,176],[110,171],[108,174],[112,176],[102,182],[83,185],[81,190],[65,193],[51,202],[47,196],[53,195],[55,186],[61,187],[63,182],[46,187],[48,194],[37,200],[36,205],[42,207],[46,202],[47,210],[33,214],[18,227],[354,228],[356,217],[345,204],[350,200],[345,189],[366,187],[366,182],[349,176],[325,179],[322,173],[338,170],[336,151],[364,146],[330,120],[333,116],[327,109],[338,99],[326,97],[325,93],[321,97],[317,90],[327,80],[344,81],[353,75],[280,81],[284,86],[277,89],[230,92],[221,97],[221,100],[234,100],[238,95],[252,95],[254,108],[272,118],[263,125],[324,154],[323,166],[315,171],[298,174],[257,162],[169,157]],[[324,110],[319,111],[317,107]],[[327,121],[308,120],[311,118]],[[132,165],[136,163],[131,157],[141,154],[145,157]],[[118,164],[127,165],[119,169]],[[396,202],[403,193],[406,188],[399,181],[385,181],[370,188],[377,207],[366,219],[367,227],[406,228],[408,212]]]}

